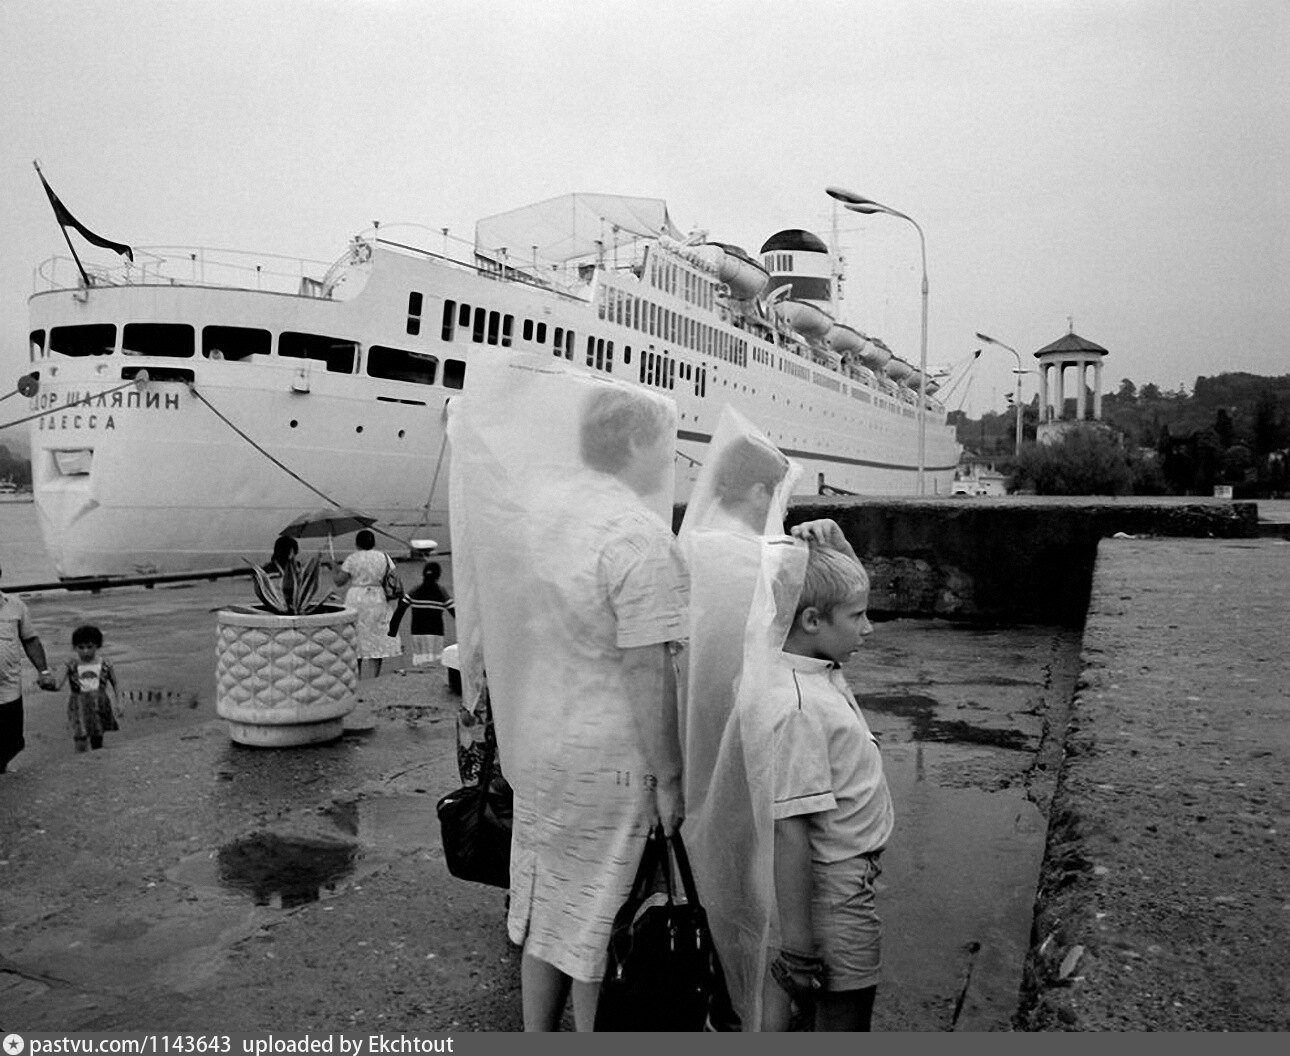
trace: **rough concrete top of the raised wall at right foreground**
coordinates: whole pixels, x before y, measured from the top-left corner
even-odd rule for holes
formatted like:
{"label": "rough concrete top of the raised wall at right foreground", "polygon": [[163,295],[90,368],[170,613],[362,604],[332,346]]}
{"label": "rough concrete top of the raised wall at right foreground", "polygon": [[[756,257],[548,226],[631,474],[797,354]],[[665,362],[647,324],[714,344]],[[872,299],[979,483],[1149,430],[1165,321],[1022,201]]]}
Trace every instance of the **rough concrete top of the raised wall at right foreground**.
{"label": "rough concrete top of the raised wall at right foreground", "polygon": [[1290,543],[1106,539],[1031,1029],[1290,1029]]}

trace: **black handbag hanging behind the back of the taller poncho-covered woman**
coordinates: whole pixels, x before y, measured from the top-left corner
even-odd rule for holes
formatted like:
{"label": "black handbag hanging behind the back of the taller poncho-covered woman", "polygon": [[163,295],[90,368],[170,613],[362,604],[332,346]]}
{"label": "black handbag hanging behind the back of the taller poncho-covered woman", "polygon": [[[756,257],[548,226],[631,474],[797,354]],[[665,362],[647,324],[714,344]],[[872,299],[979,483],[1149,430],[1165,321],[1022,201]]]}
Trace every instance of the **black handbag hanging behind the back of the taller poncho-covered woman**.
{"label": "black handbag hanging behind the back of the taller poncho-covered woman", "polygon": [[435,812],[448,872],[458,879],[510,887],[515,793],[506,777],[495,772],[495,757],[497,744],[489,738],[479,780],[449,792]]}

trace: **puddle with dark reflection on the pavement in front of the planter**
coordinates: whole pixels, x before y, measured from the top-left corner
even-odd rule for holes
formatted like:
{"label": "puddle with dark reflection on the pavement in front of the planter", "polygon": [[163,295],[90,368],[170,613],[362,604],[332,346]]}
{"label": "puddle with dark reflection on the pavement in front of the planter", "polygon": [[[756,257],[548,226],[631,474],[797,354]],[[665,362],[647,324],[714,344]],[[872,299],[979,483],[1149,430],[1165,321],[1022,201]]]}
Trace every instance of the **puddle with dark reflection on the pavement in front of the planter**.
{"label": "puddle with dark reflection on the pavement in front of the planter", "polygon": [[[248,833],[215,851],[190,855],[166,875],[188,887],[249,895],[255,905],[294,909],[333,897],[360,868],[439,846],[432,796],[338,799],[317,811],[321,832]],[[326,830],[330,824],[333,832]]]}

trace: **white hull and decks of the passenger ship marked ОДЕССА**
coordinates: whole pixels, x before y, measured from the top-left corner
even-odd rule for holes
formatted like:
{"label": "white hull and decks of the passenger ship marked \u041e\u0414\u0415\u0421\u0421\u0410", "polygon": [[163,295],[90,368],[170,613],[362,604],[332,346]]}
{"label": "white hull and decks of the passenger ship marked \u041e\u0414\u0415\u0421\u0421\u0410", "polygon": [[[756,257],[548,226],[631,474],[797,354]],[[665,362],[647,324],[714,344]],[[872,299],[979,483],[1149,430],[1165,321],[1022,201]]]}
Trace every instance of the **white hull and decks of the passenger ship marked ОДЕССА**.
{"label": "white hull and decks of the passenger ship marked \u041e\u0414\u0415\u0421\u0421\u0410", "polygon": [[[684,257],[664,250],[651,248],[655,260]],[[471,360],[507,338],[535,357],[590,361],[588,370],[672,396],[681,500],[725,404],[804,463],[810,494],[822,484],[858,494],[917,494],[912,393],[893,396],[831,369],[827,358],[813,362],[805,342],[762,340],[711,299],[704,311],[651,288],[648,273],[605,267],[579,275],[580,285],[561,290],[504,268],[498,273],[480,257],[463,266],[355,240],[348,262],[326,280],[330,289],[303,281],[297,293],[277,293],[214,286],[201,276],[161,285],[135,273],[116,285],[54,284],[37,293],[31,298],[40,375],[40,391],[28,401],[30,414],[39,415],[30,427],[32,477],[54,569],[83,578],[263,561],[293,517],[330,504],[377,517],[377,527],[399,539],[430,536],[448,548],[444,409],[462,375],[468,379]],[[700,286],[691,282],[693,290]],[[421,295],[415,326],[410,294]],[[631,298],[657,304],[659,324],[666,308],[676,329],[657,325],[650,333],[648,313],[637,308],[633,316]],[[482,322],[471,317],[461,325],[463,308]],[[126,329],[141,324],[135,334],[156,328],[147,340]],[[155,344],[156,334],[169,333],[161,328],[173,325],[194,328],[188,355]],[[111,340],[92,329],[106,326]],[[228,328],[268,331],[272,352],[212,357]],[[573,343],[562,337],[553,349],[556,335],[570,330]],[[95,334],[103,335],[101,349],[90,347]],[[344,366],[344,355],[342,362],[288,357],[284,334],[352,342],[352,364],[334,369]],[[722,340],[731,349],[743,342],[743,355],[722,355]],[[130,342],[144,353],[129,351]],[[372,376],[402,371],[397,355],[378,366],[390,349],[422,365],[433,357],[433,382]],[[139,370],[150,379],[141,380]],[[925,427],[925,494],[948,495],[958,445],[939,405],[929,402]]]}

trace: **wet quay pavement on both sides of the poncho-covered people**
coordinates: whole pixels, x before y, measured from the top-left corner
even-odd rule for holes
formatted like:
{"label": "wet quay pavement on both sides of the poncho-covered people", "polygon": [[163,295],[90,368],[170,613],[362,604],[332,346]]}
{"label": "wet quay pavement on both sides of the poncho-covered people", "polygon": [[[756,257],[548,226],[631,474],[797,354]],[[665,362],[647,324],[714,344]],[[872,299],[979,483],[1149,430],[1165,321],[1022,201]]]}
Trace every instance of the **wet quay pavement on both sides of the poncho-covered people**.
{"label": "wet quay pavement on both sides of the poncho-covered people", "polygon": [[[368,735],[235,745],[213,610],[245,591],[28,598],[52,658],[98,623],[135,696],[86,756],[61,695],[28,700],[31,747],[0,777],[3,1026],[519,1029],[503,892],[452,878],[439,845],[458,784],[442,669],[364,682]],[[848,665],[897,807],[877,1029],[1010,1029],[1078,637],[894,620]]]}

